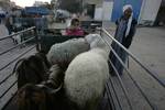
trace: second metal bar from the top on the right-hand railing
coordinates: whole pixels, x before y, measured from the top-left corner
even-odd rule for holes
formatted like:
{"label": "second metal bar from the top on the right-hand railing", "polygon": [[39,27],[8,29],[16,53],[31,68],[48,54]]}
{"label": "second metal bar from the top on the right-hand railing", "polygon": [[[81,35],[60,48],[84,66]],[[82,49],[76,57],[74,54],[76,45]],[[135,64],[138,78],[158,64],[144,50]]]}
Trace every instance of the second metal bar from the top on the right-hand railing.
{"label": "second metal bar from the top on the right-hand railing", "polygon": [[153,103],[151,103],[150,99],[146,97],[146,95],[144,94],[144,91],[142,90],[142,88],[139,86],[139,84],[133,79],[133,77],[130,74],[130,70],[127,68],[127,66],[124,65],[124,63],[122,62],[122,59],[119,57],[119,55],[114,52],[114,50],[111,47],[111,45],[105,41],[109,47],[111,48],[112,53],[116,55],[116,57],[119,59],[120,64],[124,67],[124,69],[127,70],[129,77],[132,79],[133,84],[138,87],[138,89],[140,90],[140,92],[142,94],[142,96],[144,97],[144,99],[147,101],[147,103],[151,106],[151,108],[154,110],[154,106]]}

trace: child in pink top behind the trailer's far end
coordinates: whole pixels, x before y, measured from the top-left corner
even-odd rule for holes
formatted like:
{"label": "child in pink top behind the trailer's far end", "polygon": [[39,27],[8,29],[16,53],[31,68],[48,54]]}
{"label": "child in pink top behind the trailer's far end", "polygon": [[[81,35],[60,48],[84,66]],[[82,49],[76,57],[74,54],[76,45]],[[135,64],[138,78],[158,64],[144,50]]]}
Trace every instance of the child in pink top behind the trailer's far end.
{"label": "child in pink top behind the trailer's far end", "polygon": [[79,26],[80,21],[78,19],[73,19],[70,26],[66,29],[66,35],[84,35],[82,29]]}

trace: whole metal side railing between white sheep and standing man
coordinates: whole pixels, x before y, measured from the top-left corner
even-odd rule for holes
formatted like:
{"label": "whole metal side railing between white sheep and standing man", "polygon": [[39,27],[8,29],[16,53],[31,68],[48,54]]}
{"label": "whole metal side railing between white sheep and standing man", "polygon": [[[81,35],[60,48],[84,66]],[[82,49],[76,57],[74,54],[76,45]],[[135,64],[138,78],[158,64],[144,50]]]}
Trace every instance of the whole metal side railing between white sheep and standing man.
{"label": "whole metal side railing between white sheep and standing man", "polygon": [[[151,75],[162,87],[165,87],[165,84],[163,82],[163,80],[161,80],[156,74],[154,72],[152,72],[147,66],[145,66],[144,64],[142,64],[140,62],[140,59],[133,55],[129,50],[127,50],[122,44],[120,44],[106,29],[102,29],[102,33],[105,33],[108,38],[110,38],[112,42],[114,42],[116,44],[118,44],[118,46],[120,46],[124,52],[127,52],[127,54],[138,64],[142,67],[142,69],[144,69],[148,75]],[[105,36],[106,36],[105,35]],[[121,57],[117,54],[117,52],[113,50],[113,47],[111,46],[111,43],[108,42],[108,40],[105,40],[105,43],[110,47],[111,52],[114,54],[114,56],[117,57],[117,59],[120,62],[120,64],[123,66],[123,68],[125,69],[128,76],[131,78],[131,80],[133,81],[133,84],[135,85],[135,87],[140,90],[141,95],[143,96],[143,98],[146,100],[146,102],[150,105],[151,110],[157,110],[156,106],[150,100],[150,98],[147,97],[147,95],[144,92],[144,90],[142,89],[142,87],[139,85],[139,82],[132,77],[131,72],[129,70],[129,68],[125,66],[125,64],[123,63],[123,61],[121,59]],[[119,75],[118,69],[114,67],[114,64],[112,63],[112,61],[109,61],[109,63],[111,64],[112,68],[114,69],[116,76],[120,82],[120,86],[123,90],[123,94],[125,96],[125,99],[128,101],[129,108],[130,110],[133,110],[133,105],[131,102],[130,96],[128,94],[128,89],[125,87],[125,85],[123,84],[121,76]],[[111,88],[111,90],[110,90]],[[116,94],[118,94],[114,89],[114,84],[112,82],[112,77],[109,79],[108,84],[107,84],[107,92],[110,95],[112,91],[114,91]],[[111,98],[111,97],[109,97]],[[122,110],[122,106],[121,106],[121,100],[119,100],[118,95],[114,95],[114,98],[118,101],[119,108],[120,110]],[[113,99],[112,99],[113,100]],[[117,109],[117,107],[114,106],[113,108],[114,110]]]}

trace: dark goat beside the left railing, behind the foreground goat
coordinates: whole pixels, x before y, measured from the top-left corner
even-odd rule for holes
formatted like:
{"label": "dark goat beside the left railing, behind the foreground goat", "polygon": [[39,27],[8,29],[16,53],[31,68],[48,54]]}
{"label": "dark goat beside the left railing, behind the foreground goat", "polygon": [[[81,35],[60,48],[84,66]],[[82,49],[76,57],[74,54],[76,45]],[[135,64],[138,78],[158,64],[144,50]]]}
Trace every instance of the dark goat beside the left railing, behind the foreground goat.
{"label": "dark goat beside the left railing, behind the foreground goat", "polygon": [[50,69],[50,66],[43,53],[36,53],[28,58],[20,59],[13,68],[13,73],[18,76],[18,88],[28,82],[40,84],[46,80],[48,77],[46,72]]}

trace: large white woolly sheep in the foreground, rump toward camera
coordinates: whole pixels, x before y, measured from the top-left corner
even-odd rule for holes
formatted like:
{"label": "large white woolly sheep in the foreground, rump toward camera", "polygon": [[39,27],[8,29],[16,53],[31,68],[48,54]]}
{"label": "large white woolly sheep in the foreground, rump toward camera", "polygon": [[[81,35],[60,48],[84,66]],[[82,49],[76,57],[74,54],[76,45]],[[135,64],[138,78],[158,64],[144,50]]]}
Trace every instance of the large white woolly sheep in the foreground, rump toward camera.
{"label": "large white woolly sheep in the foreground, rump toward camera", "polygon": [[[91,37],[96,38],[91,40]],[[99,37],[101,36],[97,34],[87,37],[91,40],[91,42],[88,41],[91,50],[76,56],[65,73],[66,96],[80,110],[96,110],[109,78],[109,52]]]}

